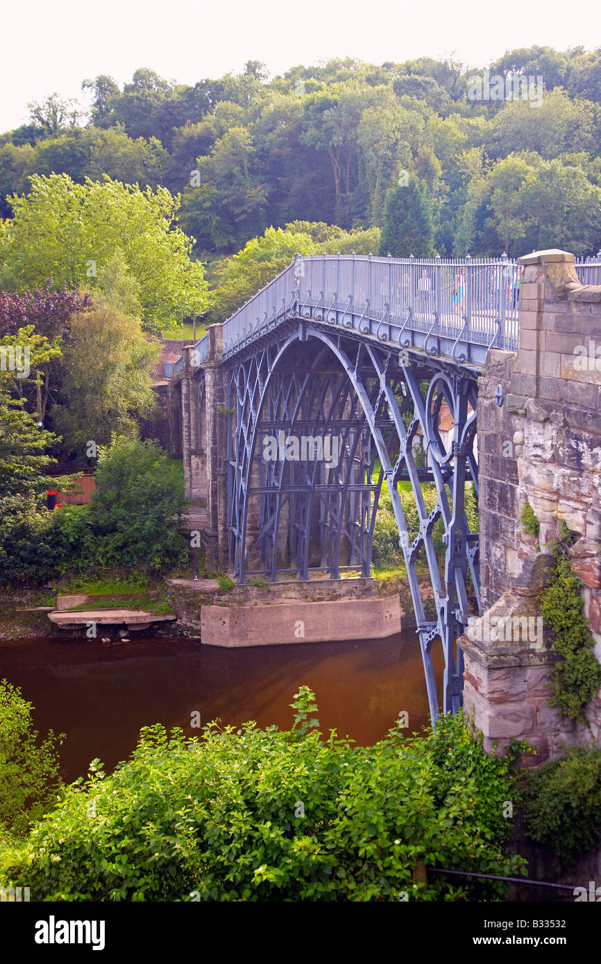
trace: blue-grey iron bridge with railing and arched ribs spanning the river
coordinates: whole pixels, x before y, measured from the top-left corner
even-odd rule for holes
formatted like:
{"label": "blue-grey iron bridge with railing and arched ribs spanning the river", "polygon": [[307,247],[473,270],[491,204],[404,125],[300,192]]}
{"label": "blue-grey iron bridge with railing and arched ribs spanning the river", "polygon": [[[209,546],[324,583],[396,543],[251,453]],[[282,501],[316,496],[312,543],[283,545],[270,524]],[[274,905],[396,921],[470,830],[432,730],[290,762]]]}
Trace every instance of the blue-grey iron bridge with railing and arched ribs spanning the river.
{"label": "blue-grey iron bridge with railing and arched ribs spanning the river", "polygon": [[223,325],[235,579],[370,576],[386,499],[396,524],[379,542],[407,572],[433,720],[461,706],[456,640],[480,607],[478,375],[490,348],[518,347],[518,272],[505,257],[297,255]]}

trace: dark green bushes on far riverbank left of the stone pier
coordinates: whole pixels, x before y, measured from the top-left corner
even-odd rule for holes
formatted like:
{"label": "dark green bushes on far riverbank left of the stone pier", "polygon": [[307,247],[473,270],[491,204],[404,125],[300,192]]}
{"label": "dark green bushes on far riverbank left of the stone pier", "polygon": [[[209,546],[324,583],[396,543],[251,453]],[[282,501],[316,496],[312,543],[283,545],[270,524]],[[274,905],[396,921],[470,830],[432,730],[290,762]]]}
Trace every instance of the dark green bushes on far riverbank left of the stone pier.
{"label": "dark green bushes on far riverbank left of the stone pier", "polygon": [[[0,583],[69,576],[80,592],[137,592],[187,561],[181,469],[154,442],[115,436],[98,449],[89,505],[48,513],[12,496],[0,521]],[[96,587],[96,588],[95,588]]]}

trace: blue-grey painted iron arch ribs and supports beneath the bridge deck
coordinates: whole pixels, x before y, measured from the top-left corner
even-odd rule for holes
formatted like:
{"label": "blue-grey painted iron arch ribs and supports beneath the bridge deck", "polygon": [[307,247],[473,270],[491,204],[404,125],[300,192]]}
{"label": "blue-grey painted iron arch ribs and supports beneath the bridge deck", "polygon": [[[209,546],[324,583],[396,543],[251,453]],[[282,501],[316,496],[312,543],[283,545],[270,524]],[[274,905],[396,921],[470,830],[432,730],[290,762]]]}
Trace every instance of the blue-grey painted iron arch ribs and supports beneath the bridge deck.
{"label": "blue-grey painted iron arch ribs and supports beneath the bridge deck", "polygon": [[[470,531],[464,505],[466,483],[478,492],[478,371],[294,314],[270,337],[238,352],[229,367],[229,529],[236,579],[275,580],[283,572],[307,579],[316,571],[339,578],[349,569],[369,576],[373,524],[386,482],[411,587],[430,712],[435,719],[439,710],[457,710],[463,668],[455,641],[479,607],[478,534]],[[445,409],[452,417],[446,444],[440,426]],[[423,467],[415,452],[419,434]],[[266,456],[266,438],[278,439],[281,455],[288,445],[293,454],[293,440],[303,435],[310,435],[315,447],[320,440],[323,451],[328,436],[336,435],[338,464],[312,459],[309,452],[303,457],[302,451],[289,461]],[[399,495],[399,486],[407,482],[419,518],[413,540]],[[437,496],[432,511],[423,497],[427,483]],[[439,519],[446,533],[444,552],[433,536]],[[428,603],[421,589],[424,567],[431,587]],[[445,657],[440,699],[432,663],[437,640]]]}

